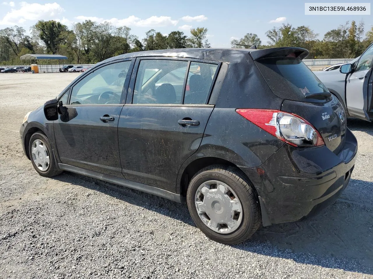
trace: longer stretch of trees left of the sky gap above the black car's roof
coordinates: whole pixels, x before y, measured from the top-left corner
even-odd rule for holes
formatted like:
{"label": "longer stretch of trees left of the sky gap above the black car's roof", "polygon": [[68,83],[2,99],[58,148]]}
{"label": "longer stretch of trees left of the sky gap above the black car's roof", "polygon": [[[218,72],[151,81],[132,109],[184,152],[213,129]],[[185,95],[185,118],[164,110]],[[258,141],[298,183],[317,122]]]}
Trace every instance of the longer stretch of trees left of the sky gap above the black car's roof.
{"label": "longer stretch of trees left of the sky gap above the black car's roof", "polygon": [[151,29],[142,41],[127,26],[91,20],[73,23],[72,29],[54,20],[39,20],[30,31],[31,36],[19,26],[0,30],[0,65],[24,64],[19,59],[24,54],[60,54],[68,57],[67,63],[94,64],[128,52],[210,47],[204,27],[190,29],[189,36],[182,31],[166,35]]}

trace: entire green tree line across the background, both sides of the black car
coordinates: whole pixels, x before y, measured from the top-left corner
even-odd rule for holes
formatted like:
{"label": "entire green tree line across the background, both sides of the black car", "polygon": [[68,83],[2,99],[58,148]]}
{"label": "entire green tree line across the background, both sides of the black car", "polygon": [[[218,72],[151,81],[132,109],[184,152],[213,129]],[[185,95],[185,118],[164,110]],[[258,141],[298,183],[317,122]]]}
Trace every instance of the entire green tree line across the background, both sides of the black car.
{"label": "entire green tree line across the background, both sides of the black car", "polygon": [[[135,51],[209,48],[207,32],[204,27],[192,28],[187,36],[182,31],[162,34],[151,29],[140,41],[131,33],[131,28],[115,27],[110,22],[85,20],[73,23],[69,29],[54,20],[39,20],[30,28],[30,36],[20,26],[0,29],[0,64],[25,64],[19,57],[28,53],[60,54],[68,57],[66,63],[94,64]],[[266,36],[267,44],[262,44],[257,34],[247,33],[241,39],[233,39],[231,45],[238,48],[247,48],[247,45],[258,48],[303,47],[310,51],[308,58],[355,58],[373,42],[373,27],[366,32],[363,21],[357,24],[353,20],[326,32],[320,40],[317,39],[319,34],[309,26],[293,27],[287,23],[268,30]]]}

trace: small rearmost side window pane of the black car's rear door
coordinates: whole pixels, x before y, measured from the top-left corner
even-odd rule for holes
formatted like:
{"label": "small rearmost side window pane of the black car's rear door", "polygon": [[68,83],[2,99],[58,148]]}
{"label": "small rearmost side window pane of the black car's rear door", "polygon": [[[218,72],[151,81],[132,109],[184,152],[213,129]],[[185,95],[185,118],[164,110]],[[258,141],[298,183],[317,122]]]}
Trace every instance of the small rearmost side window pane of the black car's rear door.
{"label": "small rearmost side window pane of the black car's rear door", "polygon": [[217,64],[191,62],[184,104],[203,105],[207,102],[216,69]]}

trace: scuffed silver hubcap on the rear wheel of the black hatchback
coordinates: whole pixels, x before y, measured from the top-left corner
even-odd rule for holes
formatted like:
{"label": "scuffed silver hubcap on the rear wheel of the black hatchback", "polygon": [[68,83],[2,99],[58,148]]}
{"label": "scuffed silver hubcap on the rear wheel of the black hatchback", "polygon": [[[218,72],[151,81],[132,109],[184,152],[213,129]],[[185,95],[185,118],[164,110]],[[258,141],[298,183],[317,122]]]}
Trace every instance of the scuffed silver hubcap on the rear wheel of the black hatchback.
{"label": "scuffed silver hubcap on the rear wheel of the black hatchback", "polygon": [[195,208],[204,224],[220,234],[237,230],[242,205],[231,187],[217,180],[204,182],[195,193]]}

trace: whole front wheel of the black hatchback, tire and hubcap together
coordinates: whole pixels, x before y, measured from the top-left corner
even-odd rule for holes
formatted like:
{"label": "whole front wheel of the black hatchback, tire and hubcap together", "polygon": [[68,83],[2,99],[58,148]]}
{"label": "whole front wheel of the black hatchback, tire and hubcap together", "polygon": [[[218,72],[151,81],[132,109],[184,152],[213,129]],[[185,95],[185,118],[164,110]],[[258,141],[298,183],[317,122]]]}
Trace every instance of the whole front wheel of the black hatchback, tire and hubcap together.
{"label": "whole front wheel of the black hatchback, tire and hubcap together", "polygon": [[50,141],[44,134],[35,133],[31,136],[29,154],[32,166],[41,176],[51,177],[62,173],[57,169]]}

